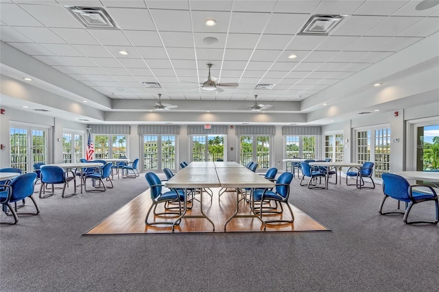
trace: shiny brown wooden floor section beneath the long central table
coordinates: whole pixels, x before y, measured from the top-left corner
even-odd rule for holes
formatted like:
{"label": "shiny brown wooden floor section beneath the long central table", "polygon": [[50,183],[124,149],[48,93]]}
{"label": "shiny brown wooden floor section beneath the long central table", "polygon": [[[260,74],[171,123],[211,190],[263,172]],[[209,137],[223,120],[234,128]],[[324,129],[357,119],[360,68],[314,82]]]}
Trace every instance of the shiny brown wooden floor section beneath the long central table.
{"label": "shiny brown wooden floor section beneath the long central table", "polygon": [[[226,191],[219,199],[219,188],[213,188],[213,197],[203,193],[203,211],[215,224],[213,231],[212,224],[204,218],[183,218],[180,225],[175,227],[175,233],[183,232],[224,232],[224,223],[233,215],[236,210],[237,195],[235,190]],[[200,194],[195,197],[200,197]],[[145,226],[145,216],[151,206],[150,190],[132,199],[125,206],[110,215],[99,223],[86,235],[91,234],[148,234],[148,233],[171,233],[170,225]],[[292,206],[294,213],[294,223],[269,223],[265,232],[294,232],[294,231],[321,231],[329,230],[318,221],[309,217],[305,212]],[[159,204],[157,212],[163,212],[163,204]],[[244,200],[239,202],[239,215],[249,215],[250,206]],[[187,211],[187,215],[200,215],[200,202],[195,201],[192,210]],[[283,207],[282,215],[267,215],[267,219],[289,219],[287,206]],[[148,221],[174,221],[174,217],[154,218],[152,212]],[[226,232],[264,232],[261,221],[257,218],[234,218],[227,224]]]}

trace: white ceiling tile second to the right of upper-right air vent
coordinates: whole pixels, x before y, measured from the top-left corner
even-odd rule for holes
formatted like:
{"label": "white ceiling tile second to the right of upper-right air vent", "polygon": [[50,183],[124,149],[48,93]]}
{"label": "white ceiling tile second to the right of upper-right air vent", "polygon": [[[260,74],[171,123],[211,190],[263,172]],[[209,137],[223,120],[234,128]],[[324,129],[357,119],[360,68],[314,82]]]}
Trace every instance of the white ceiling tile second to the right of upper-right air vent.
{"label": "white ceiling tile second to the right of upper-right air vent", "polygon": [[371,29],[368,36],[395,36],[422,20],[422,17],[390,16]]}

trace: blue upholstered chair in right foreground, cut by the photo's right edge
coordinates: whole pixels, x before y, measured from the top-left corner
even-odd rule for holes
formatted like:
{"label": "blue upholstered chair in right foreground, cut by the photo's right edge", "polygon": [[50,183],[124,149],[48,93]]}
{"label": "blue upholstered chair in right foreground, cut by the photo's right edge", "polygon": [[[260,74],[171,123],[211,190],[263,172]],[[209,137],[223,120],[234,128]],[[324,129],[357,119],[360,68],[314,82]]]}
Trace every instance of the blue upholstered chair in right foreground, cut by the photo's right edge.
{"label": "blue upholstered chair in right foreground, cut by the photo's right edge", "polygon": [[[431,186],[420,186],[418,184],[410,185],[409,182],[401,175],[396,175],[393,173],[383,173],[383,193],[384,197],[381,200],[381,204],[379,205],[379,214],[404,214],[403,221],[407,224],[412,223],[433,223],[437,224],[439,221],[439,204],[438,204],[438,195],[434,188]],[[383,212],[383,206],[385,199],[388,197],[392,197],[393,199],[398,200],[398,210]],[[414,204],[418,204],[421,202],[433,201],[436,206],[436,219],[434,221],[411,221],[409,222],[407,219],[409,217],[410,210]],[[399,203],[405,202],[405,210],[399,209]]]}

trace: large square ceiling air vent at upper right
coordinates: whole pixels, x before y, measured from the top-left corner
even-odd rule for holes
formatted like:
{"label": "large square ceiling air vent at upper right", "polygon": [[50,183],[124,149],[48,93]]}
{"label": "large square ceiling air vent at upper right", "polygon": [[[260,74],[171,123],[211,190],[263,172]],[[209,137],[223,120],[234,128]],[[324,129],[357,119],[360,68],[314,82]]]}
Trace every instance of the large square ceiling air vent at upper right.
{"label": "large square ceiling air vent at upper right", "polygon": [[305,23],[298,34],[327,36],[346,15],[315,14]]}

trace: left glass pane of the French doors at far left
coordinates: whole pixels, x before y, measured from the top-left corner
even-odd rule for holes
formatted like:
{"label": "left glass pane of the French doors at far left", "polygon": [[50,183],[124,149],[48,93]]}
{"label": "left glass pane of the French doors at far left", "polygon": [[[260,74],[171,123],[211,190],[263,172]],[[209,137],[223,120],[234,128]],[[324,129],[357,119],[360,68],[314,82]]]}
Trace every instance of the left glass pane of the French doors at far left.
{"label": "left glass pane of the French doors at far left", "polygon": [[10,128],[11,167],[21,169],[23,173],[27,173],[27,141],[27,129]]}

